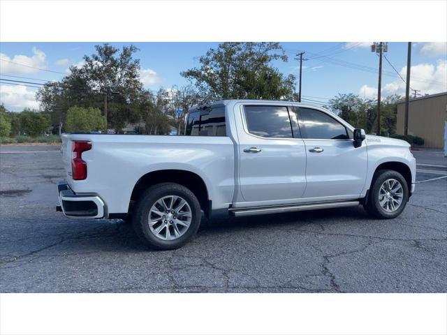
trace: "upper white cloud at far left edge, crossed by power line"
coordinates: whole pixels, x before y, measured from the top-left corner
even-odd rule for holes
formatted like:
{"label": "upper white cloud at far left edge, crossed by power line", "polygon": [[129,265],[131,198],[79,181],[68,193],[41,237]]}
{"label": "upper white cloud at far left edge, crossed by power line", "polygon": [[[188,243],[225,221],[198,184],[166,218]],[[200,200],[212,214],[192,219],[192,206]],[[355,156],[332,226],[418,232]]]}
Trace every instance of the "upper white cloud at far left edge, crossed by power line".
{"label": "upper white cloud at far left edge, crossed by power line", "polygon": [[[45,64],[45,53],[33,47],[33,56],[25,56],[24,54],[16,54],[13,58],[8,57],[6,54],[0,53],[0,59],[6,61],[0,61],[0,68],[2,73],[15,73],[15,74],[30,74],[37,73],[39,70],[36,68],[46,68]],[[25,66],[20,66],[17,64],[23,64]],[[32,66],[30,68],[27,66]]]}

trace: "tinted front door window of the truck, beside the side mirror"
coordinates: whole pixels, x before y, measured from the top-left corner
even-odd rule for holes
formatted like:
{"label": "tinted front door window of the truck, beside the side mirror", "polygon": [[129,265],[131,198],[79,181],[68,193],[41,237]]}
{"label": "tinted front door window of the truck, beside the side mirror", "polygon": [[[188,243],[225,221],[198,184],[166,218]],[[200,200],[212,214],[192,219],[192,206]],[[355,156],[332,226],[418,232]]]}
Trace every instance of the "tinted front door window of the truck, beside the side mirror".
{"label": "tinted front door window of the truck, beside the side mirror", "polygon": [[300,130],[304,138],[346,140],[349,135],[345,126],[328,114],[309,108],[298,109]]}

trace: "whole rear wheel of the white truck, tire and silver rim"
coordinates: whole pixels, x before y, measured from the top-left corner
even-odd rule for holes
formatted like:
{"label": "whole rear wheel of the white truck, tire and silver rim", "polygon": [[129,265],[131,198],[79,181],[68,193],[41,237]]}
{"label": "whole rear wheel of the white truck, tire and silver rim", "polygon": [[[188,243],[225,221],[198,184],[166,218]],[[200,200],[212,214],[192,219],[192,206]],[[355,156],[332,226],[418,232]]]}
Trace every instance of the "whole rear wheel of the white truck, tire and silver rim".
{"label": "whole rear wheel of the white truck, tire and silver rim", "polygon": [[200,204],[188,188],[156,184],[142,194],[133,213],[133,228],[151,248],[168,250],[186,244],[200,226]]}

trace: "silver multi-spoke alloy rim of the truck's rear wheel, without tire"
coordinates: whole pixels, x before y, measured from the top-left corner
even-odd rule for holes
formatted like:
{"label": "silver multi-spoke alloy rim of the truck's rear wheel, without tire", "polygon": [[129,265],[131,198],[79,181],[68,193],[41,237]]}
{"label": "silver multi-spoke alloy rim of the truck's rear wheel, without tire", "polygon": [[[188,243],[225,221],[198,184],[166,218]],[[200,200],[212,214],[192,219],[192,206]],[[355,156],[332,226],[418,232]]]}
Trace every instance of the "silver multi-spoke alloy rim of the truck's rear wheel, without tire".
{"label": "silver multi-spoke alloy rim of the truck's rear wheel, without tire", "polygon": [[186,200],[178,195],[167,195],[152,205],[147,223],[155,237],[171,241],[188,230],[192,220],[191,213]]}

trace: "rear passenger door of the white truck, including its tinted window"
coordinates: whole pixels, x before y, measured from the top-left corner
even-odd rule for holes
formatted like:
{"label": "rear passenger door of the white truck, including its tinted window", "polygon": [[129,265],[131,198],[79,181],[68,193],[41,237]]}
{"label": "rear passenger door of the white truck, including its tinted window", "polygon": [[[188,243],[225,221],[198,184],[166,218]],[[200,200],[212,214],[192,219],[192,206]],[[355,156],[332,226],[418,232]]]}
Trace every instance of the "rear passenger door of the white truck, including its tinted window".
{"label": "rear passenger door of the white truck, including its tinted window", "polygon": [[[244,129],[238,128],[237,135],[240,191],[246,202],[298,199],[305,191],[305,144],[301,138],[292,137],[293,131],[288,121],[287,107],[276,107],[277,109],[272,111],[263,110],[258,105],[258,108],[251,109],[252,114],[247,118],[242,107],[241,118]],[[263,121],[256,119],[256,113],[259,113],[258,117]],[[293,117],[296,120],[295,115]],[[277,124],[276,128],[274,124]],[[257,135],[249,133],[250,129]],[[247,150],[250,148],[254,149]]]}

